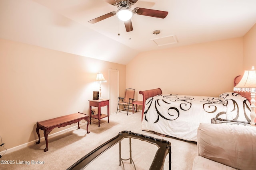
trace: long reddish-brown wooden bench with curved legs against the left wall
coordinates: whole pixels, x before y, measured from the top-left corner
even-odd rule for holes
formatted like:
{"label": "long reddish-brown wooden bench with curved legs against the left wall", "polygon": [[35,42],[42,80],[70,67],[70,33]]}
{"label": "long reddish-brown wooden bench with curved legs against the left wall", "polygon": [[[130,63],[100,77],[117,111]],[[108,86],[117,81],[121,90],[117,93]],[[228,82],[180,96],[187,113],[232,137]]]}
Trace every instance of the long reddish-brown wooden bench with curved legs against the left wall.
{"label": "long reddish-brown wooden bench with curved legs against the left wall", "polygon": [[79,121],[81,121],[81,120],[87,121],[87,129],[86,130],[87,130],[87,133],[90,133],[88,131],[88,125],[90,123],[89,116],[84,113],[80,113],[80,112],[70,114],[70,115],[61,116],[61,117],[56,117],[54,119],[36,122],[36,124],[37,124],[36,133],[38,135],[38,141],[36,142],[36,144],[40,143],[39,129],[44,131],[44,139],[46,142],[46,148],[44,149],[44,152],[46,152],[46,151],[48,151],[48,134],[52,131],[52,129],[54,129],[56,127],[58,127],[58,128],[65,127],[65,126],[71,125],[73,123],[78,123],[78,129],[80,129]]}

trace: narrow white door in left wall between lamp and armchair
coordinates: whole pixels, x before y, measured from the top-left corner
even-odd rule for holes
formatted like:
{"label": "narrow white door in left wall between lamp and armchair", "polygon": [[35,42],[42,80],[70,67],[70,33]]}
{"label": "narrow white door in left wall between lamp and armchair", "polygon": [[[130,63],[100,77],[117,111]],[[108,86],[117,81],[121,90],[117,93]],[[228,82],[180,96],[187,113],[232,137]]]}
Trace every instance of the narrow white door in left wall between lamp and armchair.
{"label": "narrow white door in left wall between lamp and armchair", "polygon": [[116,113],[119,97],[119,71],[109,69],[109,99],[110,114]]}

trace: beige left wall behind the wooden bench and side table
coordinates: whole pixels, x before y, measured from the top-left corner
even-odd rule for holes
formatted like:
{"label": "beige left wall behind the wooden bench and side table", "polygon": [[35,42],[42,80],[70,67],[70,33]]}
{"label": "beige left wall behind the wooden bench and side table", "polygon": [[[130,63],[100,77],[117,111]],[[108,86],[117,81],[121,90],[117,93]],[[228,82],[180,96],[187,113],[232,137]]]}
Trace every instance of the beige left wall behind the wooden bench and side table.
{"label": "beige left wall behind the wooden bench and side table", "polygon": [[[92,91],[99,89],[96,75],[108,80],[110,68],[119,70],[123,92],[125,65],[0,39],[0,136],[6,149],[37,139],[37,121],[88,113]],[[102,97],[108,98],[108,83],[102,83]]]}

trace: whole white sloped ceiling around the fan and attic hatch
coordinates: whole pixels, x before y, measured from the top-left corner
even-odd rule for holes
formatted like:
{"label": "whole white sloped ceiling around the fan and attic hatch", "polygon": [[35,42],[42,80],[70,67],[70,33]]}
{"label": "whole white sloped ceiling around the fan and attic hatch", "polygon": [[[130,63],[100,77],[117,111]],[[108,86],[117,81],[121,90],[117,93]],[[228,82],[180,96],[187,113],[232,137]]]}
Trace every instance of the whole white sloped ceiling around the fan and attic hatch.
{"label": "whole white sloped ceiling around the fan and attic hatch", "polygon": [[[118,10],[104,0],[0,0],[0,38],[127,64],[142,51],[242,37],[256,23],[256,0],[138,0],[136,7],[168,15],[134,15],[126,32],[116,16],[88,23]],[[171,35],[178,43],[153,41]]]}

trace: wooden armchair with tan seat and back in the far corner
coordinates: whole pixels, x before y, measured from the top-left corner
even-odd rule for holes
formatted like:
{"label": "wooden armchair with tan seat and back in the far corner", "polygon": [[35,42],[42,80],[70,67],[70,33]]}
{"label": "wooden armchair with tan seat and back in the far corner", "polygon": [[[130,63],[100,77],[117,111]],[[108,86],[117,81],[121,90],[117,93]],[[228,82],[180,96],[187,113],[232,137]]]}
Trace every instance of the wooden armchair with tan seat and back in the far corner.
{"label": "wooden armchair with tan seat and back in the far corner", "polygon": [[[127,115],[128,115],[130,105],[132,105],[132,110],[133,109],[135,110],[134,104],[132,104],[132,102],[134,101],[134,94],[135,94],[135,89],[133,88],[127,88],[125,90],[124,98],[120,98],[120,97],[118,98],[116,113],[118,113],[118,110],[120,112],[127,109]],[[124,106],[124,109],[120,109],[120,105]]]}

